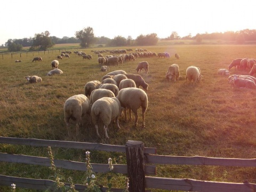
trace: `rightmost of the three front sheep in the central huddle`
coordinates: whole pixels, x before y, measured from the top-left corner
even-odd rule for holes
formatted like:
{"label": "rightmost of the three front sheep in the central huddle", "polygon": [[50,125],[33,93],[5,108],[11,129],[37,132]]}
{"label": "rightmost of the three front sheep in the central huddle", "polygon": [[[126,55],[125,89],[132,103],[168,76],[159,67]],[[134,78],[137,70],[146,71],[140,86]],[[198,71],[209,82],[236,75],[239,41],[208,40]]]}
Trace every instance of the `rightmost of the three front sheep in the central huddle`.
{"label": "rightmost of the three front sheep in the central huddle", "polygon": [[148,96],[145,91],[137,87],[124,88],[119,91],[116,98],[120,101],[121,106],[125,108],[125,119],[127,121],[126,109],[129,109],[130,120],[132,119],[131,110],[135,115],[134,125],[138,125],[138,113],[137,110],[142,108],[142,127],[145,127],[145,112],[148,107]]}

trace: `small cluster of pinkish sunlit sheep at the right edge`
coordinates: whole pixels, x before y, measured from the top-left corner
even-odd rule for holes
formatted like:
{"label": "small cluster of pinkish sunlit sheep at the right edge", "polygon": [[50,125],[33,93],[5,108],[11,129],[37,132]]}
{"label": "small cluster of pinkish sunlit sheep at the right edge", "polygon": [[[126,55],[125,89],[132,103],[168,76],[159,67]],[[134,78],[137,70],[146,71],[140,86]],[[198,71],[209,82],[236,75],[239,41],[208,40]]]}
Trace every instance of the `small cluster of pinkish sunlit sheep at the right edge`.
{"label": "small cluster of pinkish sunlit sheep at the right edge", "polygon": [[256,78],[253,76],[256,73],[256,60],[249,58],[234,59],[228,69],[219,69],[218,75],[229,75],[231,68],[235,67],[239,71],[249,71],[249,75],[230,75],[228,82],[232,87],[245,87],[249,89],[256,89]]}

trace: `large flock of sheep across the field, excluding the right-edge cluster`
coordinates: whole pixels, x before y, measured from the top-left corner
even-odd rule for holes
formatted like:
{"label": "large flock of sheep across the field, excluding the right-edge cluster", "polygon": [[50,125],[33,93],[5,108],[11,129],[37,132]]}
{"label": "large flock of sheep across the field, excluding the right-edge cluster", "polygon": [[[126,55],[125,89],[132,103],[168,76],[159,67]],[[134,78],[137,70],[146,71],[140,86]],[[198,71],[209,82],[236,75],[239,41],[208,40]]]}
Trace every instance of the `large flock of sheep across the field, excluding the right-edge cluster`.
{"label": "large flock of sheep across the field, excluding the right-edge cluster", "polygon": [[[135,50],[135,53],[130,54],[123,54],[124,51],[122,50],[118,51],[122,54],[118,56],[107,55],[106,57],[103,57],[102,53],[94,51],[95,54],[98,54],[98,62],[101,71],[108,71],[111,65],[119,65],[119,63],[135,60],[135,58],[138,57],[170,57],[170,54],[166,52],[156,54],[142,49]],[[83,59],[92,59],[92,55],[83,52],[75,53],[81,55]],[[62,55],[57,56],[57,59],[62,59],[62,57],[70,58],[68,53],[63,52],[61,54]],[[179,59],[177,53],[174,56]],[[42,61],[42,58],[36,57],[33,61]],[[53,60],[51,66],[52,70],[46,75],[63,73],[58,68],[58,60]],[[132,119],[131,111],[133,111],[135,116],[134,126],[137,126],[137,111],[139,108],[142,108],[142,127],[145,127],[145,113],[148,107],[148,96],[146,93],[146,91],[148,91],[148,84],[138,73],[142,73],[142,70],[145,70],[146,74],[148,74],[148,67],[149,63],[147,61],[141,61],[136,68],[137,74],[127,74],[124,70],[111,71],[104,75],[101,81],[94,80],[87,82],[84,86],[84,94],[77,94],[68,98],[63,105],[68,135],[72,135],[70,132],[70,119],[76,124],[76,136],[79,134],[78,127],[81,124],[83,125],[84,119],[88,119],[88,122],[94,125],[98,137],[100,137],[99,129],[101,129],[105,132],[105,138],[108,139],[107,131],[111,122],[115,122],[118,129],[120,129],[118,119],[122,111],[124,111],[126,121],[128,120],[126,110],[129,110],[130,120]],[[180,78],[179,66],[177,64],[171,65],[165,76],[169,81],[177,81]],[[186,81],[196,83],[200,81],[201,77],[201,71],[198,67],[190,66],[187,68]],[[27,76],[25,78],[30,83],[42,82],[42,78],[38,76]],[[140,89],[140,87],[142,87],[142,89]]]}

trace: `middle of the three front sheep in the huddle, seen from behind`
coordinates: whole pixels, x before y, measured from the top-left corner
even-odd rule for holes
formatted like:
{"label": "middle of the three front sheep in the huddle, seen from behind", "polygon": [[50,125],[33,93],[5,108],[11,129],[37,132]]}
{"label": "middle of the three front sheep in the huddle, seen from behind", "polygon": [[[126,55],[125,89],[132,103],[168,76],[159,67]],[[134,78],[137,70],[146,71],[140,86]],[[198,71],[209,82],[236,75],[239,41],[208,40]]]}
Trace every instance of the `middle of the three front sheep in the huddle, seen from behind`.
{"label": "middle of the three front sheep in the huddle, seen from behind", "polygon": [[118,118],[121,114],[121,104],[116,97],[109,98],[103,97],[95,101],[91,108],[91,119],[92,123],[95,125],[96,133],[99,135],[99,125],[103,124],[103,130],[105,131],[105,137],[108,137],[108,126],[111,121],[115,120],[118,129],[119,126]]}

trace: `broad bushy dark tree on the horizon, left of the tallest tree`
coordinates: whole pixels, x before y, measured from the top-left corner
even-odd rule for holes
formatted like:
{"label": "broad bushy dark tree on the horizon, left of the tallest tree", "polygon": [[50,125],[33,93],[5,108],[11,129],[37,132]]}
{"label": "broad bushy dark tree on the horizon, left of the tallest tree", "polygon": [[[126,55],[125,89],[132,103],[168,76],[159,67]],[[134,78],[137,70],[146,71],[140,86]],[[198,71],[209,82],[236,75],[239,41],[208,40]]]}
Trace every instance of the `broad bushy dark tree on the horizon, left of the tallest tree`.
{"label": "broad bushy dark tree on the horizon, left of the tallest tree", "polygon": [[53,45],[54,43],[52,42],[52,39],[50,37],[50,32],[45,31],[44,33],[41,33],[41,34],[35,34],[35,37],[33,38],[32,49],[46,51],[48,48],[52,47]]}

